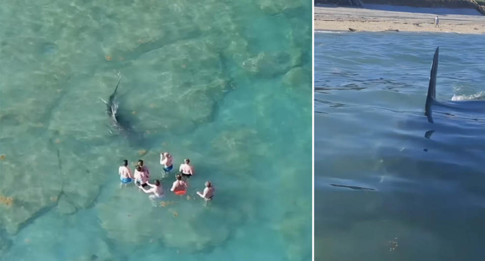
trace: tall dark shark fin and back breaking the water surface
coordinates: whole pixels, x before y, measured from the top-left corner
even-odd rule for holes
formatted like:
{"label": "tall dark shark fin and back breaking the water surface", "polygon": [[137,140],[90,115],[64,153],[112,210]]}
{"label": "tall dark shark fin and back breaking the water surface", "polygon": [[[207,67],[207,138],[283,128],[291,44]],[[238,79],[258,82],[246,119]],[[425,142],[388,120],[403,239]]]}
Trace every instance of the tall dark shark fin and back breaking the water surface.
{"label": "tall dark shark fin and back breaking the water surface", "polygon": [[448,109],[447,115],[453,112],[472,112],[485,113],[485,100],[465,100],[465,101],[437,101],[436,100],[436,74],[438,72],[438,56],[440,47],[434,51],[433,63],[431,65],[431,74],[429,76],[428,94],[426,97],[425,113],[428,122],[433,123],[432,107],[440,106],[442,109]]}

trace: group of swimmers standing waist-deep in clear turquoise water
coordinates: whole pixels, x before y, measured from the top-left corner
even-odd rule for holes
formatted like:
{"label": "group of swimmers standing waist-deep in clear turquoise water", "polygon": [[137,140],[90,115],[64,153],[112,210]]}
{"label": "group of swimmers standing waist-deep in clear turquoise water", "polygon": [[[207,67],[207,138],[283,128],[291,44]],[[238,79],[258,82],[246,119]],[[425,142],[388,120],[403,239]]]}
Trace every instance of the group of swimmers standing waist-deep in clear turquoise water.
{"label": "group of swimmers standing waist-deep in clear turquoise water", "polygon": [[[165,177],[173,169],[173,158],[168,152],[160,153],[160,165],[163,166],[163,177]],[[132,173],[131,169],[128,167],[128,160],[123,160],[122,166],[119,167],[118,173],[120,175],[120,188],[124,184],[125,186],[132,181],[134,184],[144,191],[145,193],[151,194],[149,198],[151,200],[156,200],[164,197],[164,191],[162,183],[160,180],[155,180],[155,183],[150,183],[150,171],[147,166],[143,165],[143,160],[138,160],[135,167],[135,172]],[[187,192],[188,184],[182,179],[189,178],[194,174],[192,165],[190,165],[190,160],[185,159],[184,163],[180,164],[179,173],[175,175],[175,181],[172,184],[170,191],[174,192],[176,195],[185,195]],[[149,188],[145,188],[149,187]],[[204,201],[211,200],[214,197],[215,189],[210,181],[206,181],[204,191],[197,191],[197,194],[204,198]]]}

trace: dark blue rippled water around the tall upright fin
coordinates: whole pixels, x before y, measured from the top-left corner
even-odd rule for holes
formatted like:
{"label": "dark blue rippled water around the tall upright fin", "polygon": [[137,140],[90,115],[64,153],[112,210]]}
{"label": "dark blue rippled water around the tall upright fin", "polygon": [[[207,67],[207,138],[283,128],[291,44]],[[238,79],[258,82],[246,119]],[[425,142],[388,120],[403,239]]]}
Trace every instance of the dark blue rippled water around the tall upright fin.
{"label": "dark blue rippled water around the tall upright fin", "polygon": [[[437,99],[482,110],[427,121],[437,46]],[[483,35],[315,33],[315,260],[483,259],[484,53]]]}

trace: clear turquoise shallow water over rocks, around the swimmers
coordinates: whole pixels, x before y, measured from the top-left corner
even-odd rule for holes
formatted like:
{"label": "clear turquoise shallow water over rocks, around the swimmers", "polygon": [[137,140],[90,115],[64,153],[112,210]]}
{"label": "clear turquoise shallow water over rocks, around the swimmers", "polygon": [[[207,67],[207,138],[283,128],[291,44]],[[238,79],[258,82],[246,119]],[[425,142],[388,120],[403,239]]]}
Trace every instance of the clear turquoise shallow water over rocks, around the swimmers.
{"label": "clear turquoise shallow water over rocks, around the swimmers", "polygon": [[[0,259],[311,259],[311,3],[0,10]],[[99,99],[118,72],[131,133]],[[153,207],[117,169],[143,159],[161,178],[162,150],[196,176],[189,198],[162,179]]]}

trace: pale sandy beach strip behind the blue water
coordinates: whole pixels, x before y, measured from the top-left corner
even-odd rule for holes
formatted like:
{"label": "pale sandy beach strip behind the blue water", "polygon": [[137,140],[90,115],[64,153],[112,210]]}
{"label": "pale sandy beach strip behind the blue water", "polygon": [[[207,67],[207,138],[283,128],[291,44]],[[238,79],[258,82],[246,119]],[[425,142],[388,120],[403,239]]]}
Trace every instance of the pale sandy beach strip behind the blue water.
{"label": "pale sandy beach strip behind the blue water", "polygon": [[[407,7],[406,11],[409,9]],[[440,18],[440,27],[438,28],[434,27],[434,14],[421,12],[422,8],[414,8],[414,10],[417,11],[397,12],[315,5],[315,30],[349,31],[349,28],[352,28],[356,31],[371,32],[399,30],[485,34],[485,16],[453,14],[453,11],[449,14],[438,12]]]}

